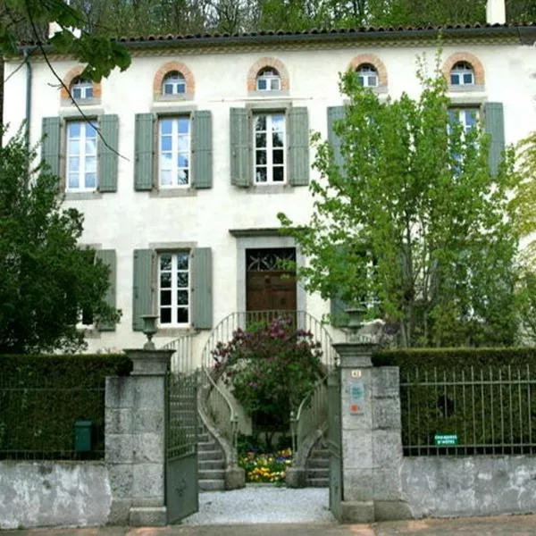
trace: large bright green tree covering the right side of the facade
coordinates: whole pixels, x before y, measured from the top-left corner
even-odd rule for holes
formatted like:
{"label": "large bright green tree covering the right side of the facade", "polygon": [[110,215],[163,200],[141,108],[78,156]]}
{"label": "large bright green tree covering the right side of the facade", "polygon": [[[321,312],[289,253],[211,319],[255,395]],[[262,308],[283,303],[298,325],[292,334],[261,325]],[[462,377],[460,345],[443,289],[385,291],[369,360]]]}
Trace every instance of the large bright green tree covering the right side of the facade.
{"label": "large bright green tree covering the right side of the facade", "polygon": [[371,316],[397,322],[405,347],[510,344],[513,149],[492,174],[489,136],[449,114],[439,64],[419,78],[417,99],[385,103],[354,73],[341,78],[350,103],[334,125],[340,146],[313,137],[320,180],[310,222],[279,214],[309,259],[297,275],[324,298],[365,302]]}

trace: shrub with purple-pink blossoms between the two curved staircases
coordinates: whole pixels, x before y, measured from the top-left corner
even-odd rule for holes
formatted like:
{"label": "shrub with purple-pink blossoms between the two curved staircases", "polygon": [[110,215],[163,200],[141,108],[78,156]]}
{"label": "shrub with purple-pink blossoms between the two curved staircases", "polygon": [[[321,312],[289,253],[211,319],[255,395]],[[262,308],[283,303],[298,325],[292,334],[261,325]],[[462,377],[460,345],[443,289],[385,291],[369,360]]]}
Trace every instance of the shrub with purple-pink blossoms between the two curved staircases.
{"label": "shrub with purple-pink blossoms between the two curved staircases", "polygon": [[289,414],[314,387],[322,350],[311,331],[292,318],[259,322],[233,332],[213,350],[216,369],[257,425],[288,431]]}

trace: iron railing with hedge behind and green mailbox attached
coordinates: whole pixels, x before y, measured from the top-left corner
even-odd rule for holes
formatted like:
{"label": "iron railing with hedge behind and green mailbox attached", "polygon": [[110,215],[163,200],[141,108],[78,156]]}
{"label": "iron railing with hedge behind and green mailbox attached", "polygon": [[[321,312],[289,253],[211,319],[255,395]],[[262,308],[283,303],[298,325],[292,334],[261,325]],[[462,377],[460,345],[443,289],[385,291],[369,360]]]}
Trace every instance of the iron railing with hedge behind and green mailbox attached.
{"label": "iron railing with hedge behind and green mailbox attached", "polygon": [[105,456],[105,384],[35,374],[0,379],[0,459]]}

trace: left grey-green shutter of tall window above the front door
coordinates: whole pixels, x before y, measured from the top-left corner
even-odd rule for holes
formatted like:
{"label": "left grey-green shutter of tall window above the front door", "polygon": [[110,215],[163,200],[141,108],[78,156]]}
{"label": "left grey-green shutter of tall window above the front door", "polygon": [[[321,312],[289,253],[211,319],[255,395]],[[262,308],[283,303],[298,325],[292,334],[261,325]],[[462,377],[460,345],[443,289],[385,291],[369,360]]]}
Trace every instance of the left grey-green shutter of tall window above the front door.
{"label": "left grey-green shutter of tall window above the front door", "polygon": [[230,109],[230,183],[251,185],[253,168],[250,159],[251,138],[249,114],[246,108]]}

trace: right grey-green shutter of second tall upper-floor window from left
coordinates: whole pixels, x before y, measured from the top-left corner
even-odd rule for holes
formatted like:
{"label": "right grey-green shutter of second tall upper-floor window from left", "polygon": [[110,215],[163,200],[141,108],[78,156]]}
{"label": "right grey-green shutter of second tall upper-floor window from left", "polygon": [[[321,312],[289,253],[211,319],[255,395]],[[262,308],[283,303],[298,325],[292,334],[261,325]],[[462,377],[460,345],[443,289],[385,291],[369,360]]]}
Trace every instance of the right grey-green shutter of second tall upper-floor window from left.
{"label": "right grey-green shutter of second tall upper-floor window from left", "polygon": [[192,113],[192,186],[212,188],[212,114]]}

